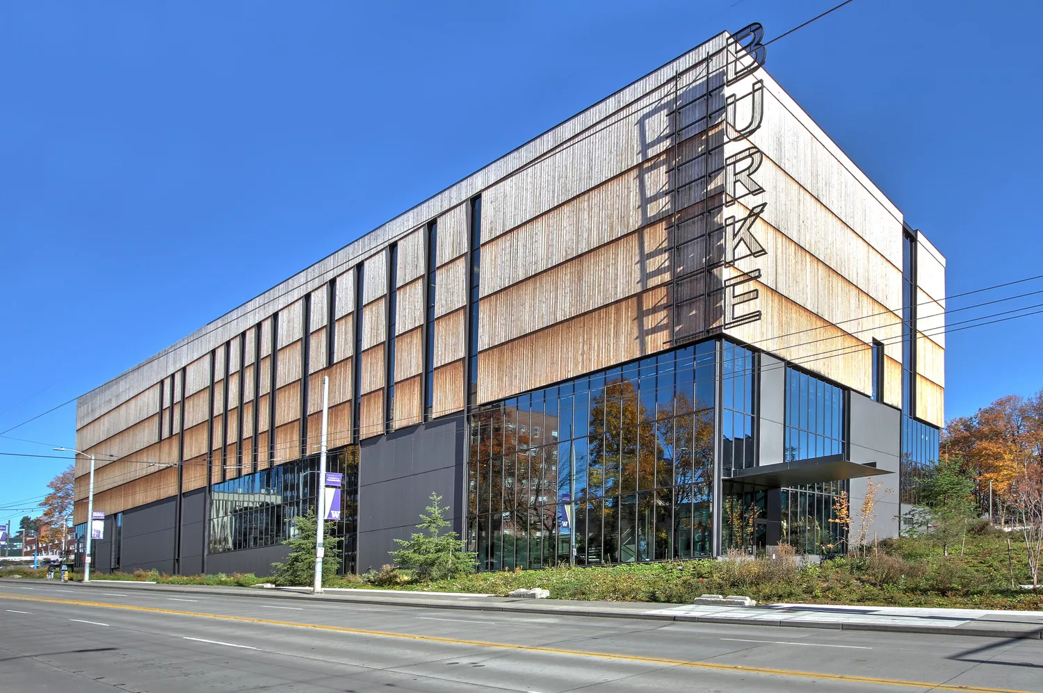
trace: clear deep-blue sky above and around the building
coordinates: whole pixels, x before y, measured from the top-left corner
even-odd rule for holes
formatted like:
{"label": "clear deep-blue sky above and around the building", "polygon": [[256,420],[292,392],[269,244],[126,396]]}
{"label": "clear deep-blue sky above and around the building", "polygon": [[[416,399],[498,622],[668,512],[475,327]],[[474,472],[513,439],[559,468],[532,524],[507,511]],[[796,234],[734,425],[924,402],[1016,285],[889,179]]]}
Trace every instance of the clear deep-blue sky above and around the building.
{"label": "clear deep-blue sky above and around the building", "polygon": [[[718,31],[773,38],[835,1],[3,5],[0,430]],[[855,0],[769,48],[948,256],[950,294],[1043,273],[1041,21],[1040,3]],[[948,336],[947,416],[1043,387],[1041,337],[1041,316]],[[74,409],[8,436],[73,445]],[[64,464],[0,456],[0,519]]]}

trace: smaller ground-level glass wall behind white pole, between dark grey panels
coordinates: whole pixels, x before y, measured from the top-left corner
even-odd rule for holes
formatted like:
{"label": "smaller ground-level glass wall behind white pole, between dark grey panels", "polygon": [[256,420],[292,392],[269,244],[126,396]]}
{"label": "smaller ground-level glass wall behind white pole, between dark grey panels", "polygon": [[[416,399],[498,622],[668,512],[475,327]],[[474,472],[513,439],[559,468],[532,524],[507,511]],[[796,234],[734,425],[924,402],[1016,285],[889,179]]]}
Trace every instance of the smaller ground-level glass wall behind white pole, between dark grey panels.
{"label": "smaller ground-level glass wall behind white pole, between dark grey panels", "polygon": [[[328,540],[336,544],[341,572],[356,568],[359,494],[358,446],[326,453],[326,469],[344,475],[341,517]],[[210,553],[223,553],[284,543],[296,530],[293,519],[318,502],[319,457],[312,455],[264,469],[213,487]],[[340,540],[340,541],[337,541]]]}

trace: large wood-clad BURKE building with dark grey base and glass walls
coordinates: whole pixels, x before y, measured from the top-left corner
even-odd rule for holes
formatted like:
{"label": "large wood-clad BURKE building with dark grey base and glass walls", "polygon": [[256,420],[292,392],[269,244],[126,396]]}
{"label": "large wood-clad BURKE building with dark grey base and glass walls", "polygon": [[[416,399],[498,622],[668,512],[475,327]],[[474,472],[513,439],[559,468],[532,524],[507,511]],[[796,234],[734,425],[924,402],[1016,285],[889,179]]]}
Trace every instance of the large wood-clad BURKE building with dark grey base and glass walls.
{"label": "large wood-clad BURKE building with dark grey base and glass walls", "polygon": [[483,569],[839,551],[871,476],[894,535],[938,457],[945,259],[761,36],[711,38],[83,395],[97,568],[268,572],[315,502],[323,377],[358,571],[432,492]]}

